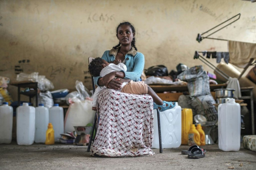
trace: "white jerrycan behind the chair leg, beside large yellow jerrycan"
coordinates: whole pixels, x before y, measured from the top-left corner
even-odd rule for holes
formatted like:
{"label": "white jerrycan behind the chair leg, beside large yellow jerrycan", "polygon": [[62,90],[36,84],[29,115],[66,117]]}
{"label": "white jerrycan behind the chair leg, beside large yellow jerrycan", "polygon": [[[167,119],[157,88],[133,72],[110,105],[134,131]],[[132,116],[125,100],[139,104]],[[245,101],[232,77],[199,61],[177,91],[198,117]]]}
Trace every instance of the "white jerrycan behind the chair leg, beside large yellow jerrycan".
{"label": "white jerrycan behind the chair leg, beside large yellow jerrycan", "polygon": [[[162,148],[181,146],[181,107],[176,102],[173,109],[160,112]],[[154,136],[151,148],[159,149],[157,110],[154,109]]]}

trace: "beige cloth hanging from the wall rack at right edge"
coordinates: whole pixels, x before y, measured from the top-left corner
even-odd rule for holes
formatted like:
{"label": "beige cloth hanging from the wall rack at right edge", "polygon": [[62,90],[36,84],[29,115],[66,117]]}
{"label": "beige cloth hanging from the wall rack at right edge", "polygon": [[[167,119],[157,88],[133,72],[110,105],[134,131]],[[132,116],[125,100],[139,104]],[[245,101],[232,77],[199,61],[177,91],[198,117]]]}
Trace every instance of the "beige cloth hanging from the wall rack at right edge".
{"label": "beige cloth hanging from the wall rack at right edge", "polygon": [[256,43],[228,41],[229,62],[245,68],[251,58],[256,58]]}

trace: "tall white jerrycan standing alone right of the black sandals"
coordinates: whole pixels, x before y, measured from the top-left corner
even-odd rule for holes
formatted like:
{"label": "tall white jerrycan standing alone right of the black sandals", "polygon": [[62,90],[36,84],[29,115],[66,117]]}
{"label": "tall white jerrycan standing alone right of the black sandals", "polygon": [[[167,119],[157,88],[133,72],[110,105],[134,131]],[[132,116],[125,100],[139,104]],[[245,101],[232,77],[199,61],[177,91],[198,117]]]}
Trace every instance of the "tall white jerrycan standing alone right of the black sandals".
{"label": "tall white jerrycan standing alone right of the black sandals", "polygon": [[241,109],[235,99],[218,105],[218,145],[223,151],[239,151]]}

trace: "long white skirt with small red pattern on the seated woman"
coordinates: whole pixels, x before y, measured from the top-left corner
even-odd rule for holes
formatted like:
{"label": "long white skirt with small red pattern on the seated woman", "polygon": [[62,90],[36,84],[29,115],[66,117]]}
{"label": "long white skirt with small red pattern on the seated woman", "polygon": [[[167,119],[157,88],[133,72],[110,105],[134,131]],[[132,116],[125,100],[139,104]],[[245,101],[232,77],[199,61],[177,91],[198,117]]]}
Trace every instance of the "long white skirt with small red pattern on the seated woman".
{"label": "long white skirt with small red pattern on the seated woman", "polygon": [[98,96],[98,115],[92,155],[154,155],[150,148],[153,141],[153,99],[150,95],[105,89]]}

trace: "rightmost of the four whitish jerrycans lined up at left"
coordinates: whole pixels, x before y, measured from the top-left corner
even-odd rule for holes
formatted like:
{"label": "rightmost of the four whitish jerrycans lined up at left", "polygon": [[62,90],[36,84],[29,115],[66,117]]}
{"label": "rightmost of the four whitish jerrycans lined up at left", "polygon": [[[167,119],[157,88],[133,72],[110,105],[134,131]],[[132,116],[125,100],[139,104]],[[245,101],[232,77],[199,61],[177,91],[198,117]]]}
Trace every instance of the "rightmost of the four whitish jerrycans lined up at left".
{"label": "rightmost of the four whitish jerrycans lined up at left", "polygon": [[64,133],[64,112],[63,108],[59,107],[59,104],[54,104],[49,109],[49,122],[54,127],[54,141],[58,142],[61,134]]}

